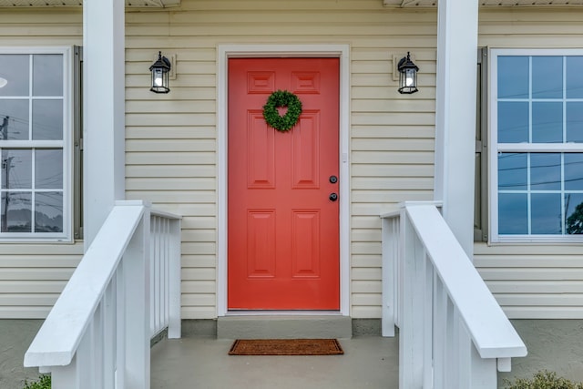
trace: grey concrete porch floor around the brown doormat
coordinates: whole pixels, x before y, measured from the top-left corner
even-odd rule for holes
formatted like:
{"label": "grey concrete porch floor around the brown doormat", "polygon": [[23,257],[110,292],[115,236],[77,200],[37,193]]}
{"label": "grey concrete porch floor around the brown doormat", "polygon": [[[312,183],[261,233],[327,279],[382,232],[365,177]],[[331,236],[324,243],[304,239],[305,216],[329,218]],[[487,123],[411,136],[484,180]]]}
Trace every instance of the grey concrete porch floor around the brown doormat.
{"label": "grey concrete porch floor around the brown doormat", "polygon": [[232,356],[232,340],[164,339],[151,350],[150,388],[398,388],[398,337],[339,341],[343,355]]}

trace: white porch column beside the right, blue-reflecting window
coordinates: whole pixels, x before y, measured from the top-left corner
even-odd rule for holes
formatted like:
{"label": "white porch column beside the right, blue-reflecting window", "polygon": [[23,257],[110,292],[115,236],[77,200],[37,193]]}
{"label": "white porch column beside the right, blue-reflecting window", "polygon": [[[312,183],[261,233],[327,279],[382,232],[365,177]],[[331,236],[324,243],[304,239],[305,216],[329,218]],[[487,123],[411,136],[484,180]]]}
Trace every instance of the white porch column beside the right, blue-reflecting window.
{"label": "white porch column beside the right, blue-reflecting window", "polygon": [[474,244],[477,0],[439,0],[435,200],[465,252]]}

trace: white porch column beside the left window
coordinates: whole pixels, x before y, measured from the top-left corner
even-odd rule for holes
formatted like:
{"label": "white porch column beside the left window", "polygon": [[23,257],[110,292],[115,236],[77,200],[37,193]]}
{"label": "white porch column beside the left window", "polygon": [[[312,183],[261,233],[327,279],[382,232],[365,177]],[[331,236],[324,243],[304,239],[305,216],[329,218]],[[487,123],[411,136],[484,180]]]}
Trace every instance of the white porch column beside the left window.
{"label": "white porch column beside the left window", "polygon": [[125,198],[125,2],[83,1],[84,237]]}

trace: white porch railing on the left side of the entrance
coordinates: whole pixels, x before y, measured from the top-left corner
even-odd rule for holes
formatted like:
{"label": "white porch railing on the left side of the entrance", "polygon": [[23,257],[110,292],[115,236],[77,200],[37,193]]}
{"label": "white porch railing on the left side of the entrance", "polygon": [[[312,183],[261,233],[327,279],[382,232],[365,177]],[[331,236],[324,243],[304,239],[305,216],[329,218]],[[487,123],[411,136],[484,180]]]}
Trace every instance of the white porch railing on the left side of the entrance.
{"label": "white porch railing on the left side of the entrance", "polygon": [[164,325],[179,336],[179,217],[152,213],[116,203],[28,348],[25,366],[53,389],[148,388],[150,337]]}

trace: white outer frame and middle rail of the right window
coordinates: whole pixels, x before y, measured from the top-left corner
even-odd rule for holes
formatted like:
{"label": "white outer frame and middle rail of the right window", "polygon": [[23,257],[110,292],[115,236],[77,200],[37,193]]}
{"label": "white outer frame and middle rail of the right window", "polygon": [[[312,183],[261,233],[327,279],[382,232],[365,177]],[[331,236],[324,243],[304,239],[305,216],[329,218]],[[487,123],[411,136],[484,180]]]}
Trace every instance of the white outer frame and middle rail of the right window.
{"label": "white outer frame and middle rail of the right window", "polygon": [[[497,58],[498,56],[583,56],[583,49],[566,48],[490,48],[488,85],[488,199],[490,242],[583,242],[583,235],[500,235],[498,233],[498,159],[499,152],[579,152],[583,143],[498,143],[497,142]],[[565,66],[565,63],[563,64]],[[569,101],[578,101],[569,99]],[[583,99],[581,99],[583,101]],[[562,201],[562,200],[561,200]]]}

